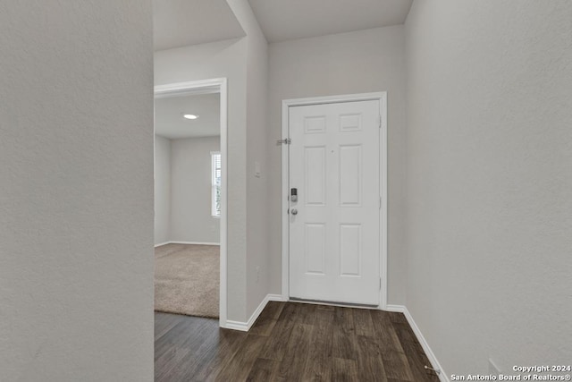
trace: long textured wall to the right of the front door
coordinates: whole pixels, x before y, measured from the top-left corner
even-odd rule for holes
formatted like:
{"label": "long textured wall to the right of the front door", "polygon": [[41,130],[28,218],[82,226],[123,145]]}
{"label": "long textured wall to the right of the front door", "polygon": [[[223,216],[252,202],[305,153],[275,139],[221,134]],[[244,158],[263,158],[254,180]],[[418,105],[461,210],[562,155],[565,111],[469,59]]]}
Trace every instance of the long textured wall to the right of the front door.
{"label": "long textured wall to the right of the front door", "polygon": [[416,1],[407,306],[448,374],[572,360],[572,3]]}

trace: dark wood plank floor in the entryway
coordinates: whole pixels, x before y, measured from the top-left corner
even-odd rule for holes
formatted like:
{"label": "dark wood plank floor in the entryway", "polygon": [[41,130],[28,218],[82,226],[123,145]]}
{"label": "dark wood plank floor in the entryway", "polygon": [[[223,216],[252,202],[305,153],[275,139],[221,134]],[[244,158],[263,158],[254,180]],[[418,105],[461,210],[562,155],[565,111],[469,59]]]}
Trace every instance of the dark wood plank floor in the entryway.
{"label": "dark wood plank floor in the entryway", "polygon": [[156,381],[438,381],[401,313],[271,301],[248,333],[155,315]]}

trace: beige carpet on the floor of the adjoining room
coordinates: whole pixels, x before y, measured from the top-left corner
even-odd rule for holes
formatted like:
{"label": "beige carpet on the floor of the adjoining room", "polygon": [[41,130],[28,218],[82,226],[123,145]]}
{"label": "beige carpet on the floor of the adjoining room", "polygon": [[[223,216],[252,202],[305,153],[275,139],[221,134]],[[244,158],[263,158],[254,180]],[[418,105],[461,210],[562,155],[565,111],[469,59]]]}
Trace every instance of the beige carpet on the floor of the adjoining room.
{"label": "beige carpet on the floor of the adjoining room", "polygon": [[155,310],[218,318],[219,250],[166,244],[155,249]]}

